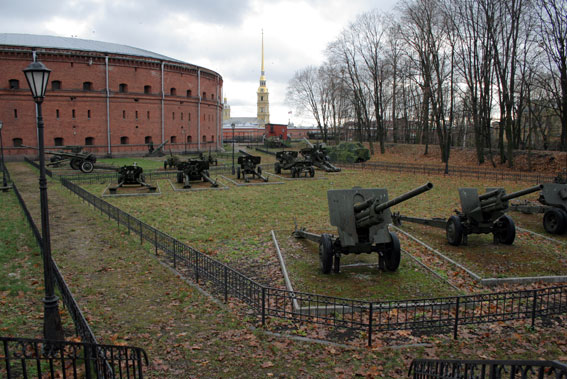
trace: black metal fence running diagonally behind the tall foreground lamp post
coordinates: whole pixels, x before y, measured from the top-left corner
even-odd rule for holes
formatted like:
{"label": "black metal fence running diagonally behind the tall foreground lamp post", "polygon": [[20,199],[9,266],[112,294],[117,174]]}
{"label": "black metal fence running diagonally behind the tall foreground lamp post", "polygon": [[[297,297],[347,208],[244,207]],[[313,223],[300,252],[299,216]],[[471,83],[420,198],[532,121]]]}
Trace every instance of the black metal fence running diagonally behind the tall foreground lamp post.
{"label": "black metal fence running diagonally behind the tall foreground lamp post", "polygon": [[[40,247],[40,249],[42,250],[41,253],[43,254],[43,248],[42,248],[43,239],[42,239],[41,233],[39,232],[39,229],[37,228],[37,225],[35,224],[32,216],[31,216],[31,213],[29,212],[29,210],[26,206],[26,203],[25,203],[24,199],[22,198],[20,191],[18,190],[16,183],[12,183],[12,188],[13,188],[14,193],[15,193],[17,199],[18,199],[20,207],[22,208],[22,211],[24,212],[24,215],[26,216],[26,220],[28,221],[30,229],[32,230],[32,233],[35,237],[35,240],[36,240],[38,246]],[[53,273],[53,276],[54,276],[55,284],[57,286],[57,289],[59,290],[63,304],[67,308],[67,311],[71,315],[71,318],[72,318],[73,323],[75,325],[75,333],[78,336],[80,336],[81,339],[83,341],[85,341],[86,343],[90,343],[94,346],[98,346],[98,342],[96,340],[94,333],[92,332],[86,318],[84,317],[81,309],[79,308],[77,301],[73,297],[73,294],[71,293],[71,290],[69,289],[69,286],[65,282],[65,279],[63,278],[63,275],[61,274],[59,267],[57,266],[57,264],[55,263],[55,261],[53,259],[51,260],[51,265],[52,265],[51,270],[52,270],[52,273]],[[102,350],[100,350],[98,352],[100,354],[103,353]],[[145,352],[144,352],[144,355],[145,355]],[[101,359],[104,360],[104,355],[101,355]],[[108,371],[109,369],[110,369],[110,366],[107,365],[106,370]],[[108,371],[108,374],[111,375],[112,371]]]}

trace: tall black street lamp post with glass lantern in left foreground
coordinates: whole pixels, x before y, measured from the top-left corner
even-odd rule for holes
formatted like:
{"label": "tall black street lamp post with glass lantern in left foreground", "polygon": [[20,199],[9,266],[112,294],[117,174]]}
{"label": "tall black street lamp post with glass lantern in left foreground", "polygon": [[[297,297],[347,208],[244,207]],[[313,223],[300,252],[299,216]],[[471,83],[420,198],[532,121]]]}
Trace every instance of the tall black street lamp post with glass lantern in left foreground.
{"label": "tall black street lamp post with glass lantern in left foreground", "polygon": [[39,147],[39,201],[41,207],[41,245],[43,252],[43,337],[46,340],[63,340],[63,327],[59,316],[59,298],[55,296],[53,266],[51,262],[51,237],[49,235],[49,209],[47,205],[47,180],[45,179],[45,154],[43,142],[43,116],[41,103],[45,97],[50,69],[41,62],[32,62],[24,69],[33,99],[37,104],[37,135]]}

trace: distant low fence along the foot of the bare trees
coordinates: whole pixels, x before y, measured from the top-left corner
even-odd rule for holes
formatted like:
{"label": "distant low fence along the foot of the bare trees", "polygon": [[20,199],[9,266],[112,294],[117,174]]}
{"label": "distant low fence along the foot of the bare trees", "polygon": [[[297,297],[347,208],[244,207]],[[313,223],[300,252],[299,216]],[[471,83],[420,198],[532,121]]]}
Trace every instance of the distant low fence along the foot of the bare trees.
{"label": "distant low fence along the foot of the bare trees", "polygon": [[[383,170],[395,172],[407,172],[423,175],[446,175],[445,167],[427,164],[413,163],[392,163],[392,162],[363,162],[363,163],[339,163],[340,167],[354,168],[362,170]],[[490,180],[510,180],[516,182],[546,183],[553,182],[554,176],[548,174],[538,174],[531,172],[506,172],[496,170],[480,170],[469,167],[451,167],[448,174],[451,176],[490,179]]]}

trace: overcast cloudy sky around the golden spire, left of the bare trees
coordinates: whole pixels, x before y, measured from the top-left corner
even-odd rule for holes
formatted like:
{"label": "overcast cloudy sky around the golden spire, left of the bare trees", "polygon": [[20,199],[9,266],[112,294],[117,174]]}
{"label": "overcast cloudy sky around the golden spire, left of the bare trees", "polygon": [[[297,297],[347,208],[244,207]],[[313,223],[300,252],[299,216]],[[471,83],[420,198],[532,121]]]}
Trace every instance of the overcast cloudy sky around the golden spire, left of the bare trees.
{"label": "overcast cloudy sky around the golden spire, left of the bare trees", "polygon": [[233,117],[256,116],[261,33],[270,121],[311,124],[285,104],[293,74],[356,16],[396,0],[0,0],[5,33],[77,37],[146,49],[214,70]]}

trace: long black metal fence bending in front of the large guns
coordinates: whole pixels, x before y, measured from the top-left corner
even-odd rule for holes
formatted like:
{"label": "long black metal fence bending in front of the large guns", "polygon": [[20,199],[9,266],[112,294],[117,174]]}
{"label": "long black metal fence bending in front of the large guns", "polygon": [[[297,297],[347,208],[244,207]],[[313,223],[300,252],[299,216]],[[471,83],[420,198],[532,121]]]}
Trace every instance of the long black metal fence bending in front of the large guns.
{"label": "long black metal fence bending in front of the large guns", "polygon": [[[435,299],[369,302],[331,296],[290,292],[263,286],[244,274],[203,254],[175,238],[147,225],[107,203],[71,181],[61,178],[64,187],[99,209],[109,219],[150,243],[156,254],[163,251],[178,268],[201,286],[224,298],[240,299],[261,317],[288,319],[367,332],[391,330],[435,330],[452,332],[457,338],[459,325],[484,324],[506,320],[528,320],[567,312],[567,286],[529,291],[499,292]],[[301,304],[294,308],[294,300]]]}

